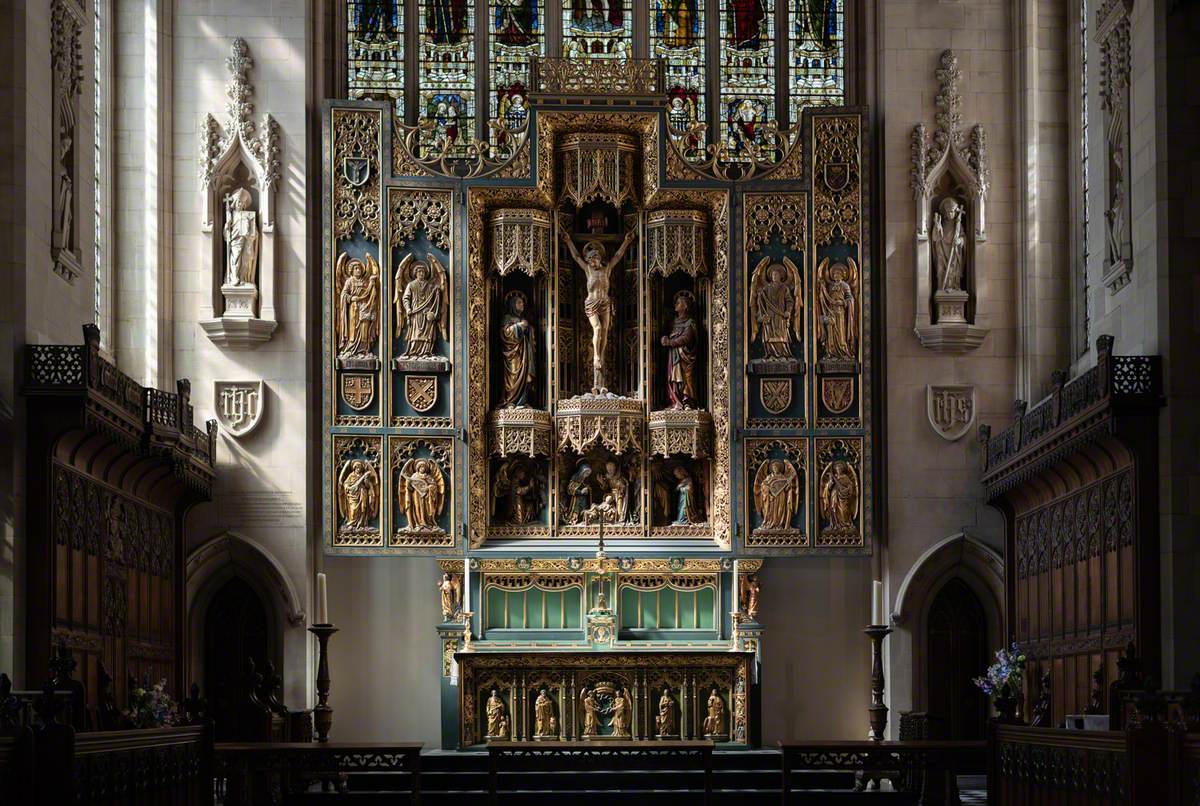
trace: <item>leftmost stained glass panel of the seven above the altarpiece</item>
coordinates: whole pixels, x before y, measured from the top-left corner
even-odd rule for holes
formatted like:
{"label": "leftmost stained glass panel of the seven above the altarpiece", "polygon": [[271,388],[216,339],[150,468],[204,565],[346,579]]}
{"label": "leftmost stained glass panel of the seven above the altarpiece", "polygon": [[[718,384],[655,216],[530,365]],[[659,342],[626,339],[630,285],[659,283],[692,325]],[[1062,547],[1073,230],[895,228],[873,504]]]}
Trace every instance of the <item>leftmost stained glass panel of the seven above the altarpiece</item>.
{"label": "leftmost stained glass panel of the seven above the altarpiece", "polygon": [[347,88],[352,98],[390,98],[404,116],[404,14],[400,0],[347,0]]}

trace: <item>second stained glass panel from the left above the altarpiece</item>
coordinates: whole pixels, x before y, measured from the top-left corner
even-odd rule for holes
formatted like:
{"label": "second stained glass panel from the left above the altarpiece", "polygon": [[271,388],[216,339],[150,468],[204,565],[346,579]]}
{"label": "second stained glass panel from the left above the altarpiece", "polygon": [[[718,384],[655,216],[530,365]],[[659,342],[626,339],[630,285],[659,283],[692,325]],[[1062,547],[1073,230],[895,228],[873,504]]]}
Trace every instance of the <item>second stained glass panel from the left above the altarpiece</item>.
{"label": "second stained glass panel from the left above the altarpiece", "polygon": [[475,139],[474,16],[472,0],[421,0],[418,114],[433,124],[421,145],[434,154]]}

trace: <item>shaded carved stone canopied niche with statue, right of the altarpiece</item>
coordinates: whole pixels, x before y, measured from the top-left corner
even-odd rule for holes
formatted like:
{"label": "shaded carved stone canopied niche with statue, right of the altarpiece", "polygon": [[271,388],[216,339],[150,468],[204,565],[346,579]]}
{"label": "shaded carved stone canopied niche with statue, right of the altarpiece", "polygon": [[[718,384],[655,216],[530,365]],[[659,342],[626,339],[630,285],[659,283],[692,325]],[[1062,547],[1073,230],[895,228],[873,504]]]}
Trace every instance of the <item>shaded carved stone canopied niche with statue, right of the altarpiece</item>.
{"label": "shaded carved stone canopied niche with statue, right of the altarpiece", "polygon": [[986,240],[986,140],[982,125],[962,131],[958,55],[942,54],[937,68],[937,116],[932,137],[924,124],[912,132],[912,191],[917,205],[914,331],[936,353],[970,353],[988,329],[974,324],[976,245]]}

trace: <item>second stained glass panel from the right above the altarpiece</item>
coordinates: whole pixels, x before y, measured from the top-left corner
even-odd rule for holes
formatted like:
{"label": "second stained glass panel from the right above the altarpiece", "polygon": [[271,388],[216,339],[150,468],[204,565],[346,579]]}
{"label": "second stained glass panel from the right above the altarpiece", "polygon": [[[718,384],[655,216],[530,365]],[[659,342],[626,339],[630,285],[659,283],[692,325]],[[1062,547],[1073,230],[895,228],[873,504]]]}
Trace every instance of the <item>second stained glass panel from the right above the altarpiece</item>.
{"label": "second stained glass panel from the right above the altarpiece", "polygon": [[722,0],[720,32],[720,137],[733,158],[748,158],[775,119],[774,0]]}

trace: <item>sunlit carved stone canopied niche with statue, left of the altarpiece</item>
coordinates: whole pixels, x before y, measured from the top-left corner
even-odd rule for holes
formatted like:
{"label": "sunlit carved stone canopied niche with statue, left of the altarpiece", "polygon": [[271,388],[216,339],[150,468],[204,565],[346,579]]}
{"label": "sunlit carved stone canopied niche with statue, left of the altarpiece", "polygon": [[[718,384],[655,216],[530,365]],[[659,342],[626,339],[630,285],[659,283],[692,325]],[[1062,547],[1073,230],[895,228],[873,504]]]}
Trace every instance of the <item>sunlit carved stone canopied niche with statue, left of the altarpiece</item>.
{"label": "sunlit carved stone canopied niche with statue, left of the altarpiece", "polygon": [[228,118],[222,127],[200,122],[203,260],[210,293],[202,300],[200,326],[221,347],[253,347],[271,338],[275,313],[275,191],[280,179],[280,127],[264,115],[252,120],[253,66],[246,41],[233,42],[226,67]]}

